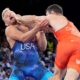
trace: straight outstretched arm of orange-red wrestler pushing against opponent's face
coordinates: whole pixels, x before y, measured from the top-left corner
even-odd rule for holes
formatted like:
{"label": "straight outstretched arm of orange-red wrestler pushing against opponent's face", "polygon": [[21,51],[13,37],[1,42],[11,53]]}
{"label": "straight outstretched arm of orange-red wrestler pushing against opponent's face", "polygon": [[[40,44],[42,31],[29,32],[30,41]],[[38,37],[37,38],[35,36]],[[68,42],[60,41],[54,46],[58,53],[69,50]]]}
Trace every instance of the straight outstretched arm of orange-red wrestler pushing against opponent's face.
{"label": "straight outstretched arm of orange-red wrestler pushing against opponent's face", "polygon": [[37,21],[43,21],[46,19],[46,16],[36,16],[36,15],[24,15],[24,16],[16,16],[17,21],[22,22],[25,25],[34,24]]}

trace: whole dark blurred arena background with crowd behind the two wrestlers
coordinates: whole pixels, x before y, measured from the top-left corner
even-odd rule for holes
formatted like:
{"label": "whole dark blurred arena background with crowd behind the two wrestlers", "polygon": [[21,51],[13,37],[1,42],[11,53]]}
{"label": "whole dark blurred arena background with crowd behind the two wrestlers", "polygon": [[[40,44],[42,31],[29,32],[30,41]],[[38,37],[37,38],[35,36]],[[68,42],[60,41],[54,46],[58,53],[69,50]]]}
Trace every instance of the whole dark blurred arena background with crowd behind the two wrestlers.
{"label": "whole dark blurred arena background with crowd behind the two wrestlers", "polygon": [[[80,30],[80,3],[79,0],[0,0],[0,80],[8,80],[13,65],[13,54],[6,41],[5,25],[1,19],[1,12],[9,7],[21,15],[45,15],[46,8],[51,4],[59,4],[63,7],[64,15]],[[41,62],[51,69],[54,65],[57,41],[55,37],[46,34],[48,45],[44,52],[40,53]]]}

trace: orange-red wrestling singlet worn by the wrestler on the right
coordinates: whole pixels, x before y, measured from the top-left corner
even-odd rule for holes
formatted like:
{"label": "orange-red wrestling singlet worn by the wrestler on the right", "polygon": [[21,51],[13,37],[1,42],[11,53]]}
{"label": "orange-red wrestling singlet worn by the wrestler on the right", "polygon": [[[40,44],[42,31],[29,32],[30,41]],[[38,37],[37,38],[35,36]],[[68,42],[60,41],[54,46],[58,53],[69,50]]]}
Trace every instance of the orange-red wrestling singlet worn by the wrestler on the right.
{"label": "orange-red wrestling singlet worn by the wrestler on the right", "polygon": [[78,33],[78,30],[72,22],[54,32],[58,40],[55,64],[61,69],[67,66],[80,73],[80,37],[74,33]]}

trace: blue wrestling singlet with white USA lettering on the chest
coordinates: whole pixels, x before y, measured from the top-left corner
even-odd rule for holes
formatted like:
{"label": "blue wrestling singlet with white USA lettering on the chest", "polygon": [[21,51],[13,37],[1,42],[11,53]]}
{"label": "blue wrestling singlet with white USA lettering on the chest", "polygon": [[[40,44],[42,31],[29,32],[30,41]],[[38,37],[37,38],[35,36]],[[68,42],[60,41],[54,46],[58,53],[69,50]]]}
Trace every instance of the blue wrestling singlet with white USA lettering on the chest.
{"label": "blue wrestling singlet with white USA lettering on the chest", "polygon": [[53,73],[41,64],[35,42],[16,41],[12,50],[15,64],[9,80],[27,80],[26,77],[48,80],[53,76]]}

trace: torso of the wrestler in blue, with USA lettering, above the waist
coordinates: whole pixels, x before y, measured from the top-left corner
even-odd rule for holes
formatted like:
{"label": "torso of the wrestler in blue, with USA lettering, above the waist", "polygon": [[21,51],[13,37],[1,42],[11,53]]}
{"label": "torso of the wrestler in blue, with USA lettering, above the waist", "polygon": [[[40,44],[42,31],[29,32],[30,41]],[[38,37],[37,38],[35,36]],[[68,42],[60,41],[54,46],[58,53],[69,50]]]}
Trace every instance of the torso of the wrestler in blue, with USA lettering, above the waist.
{"label": "torso of the wrestler in blue, with USA lettering, above the waist", "polygon": [[12,50],[14,59],[19,64],[31,66],[39,62],[37,46],[33,41],[25,43],[16,41]]}

